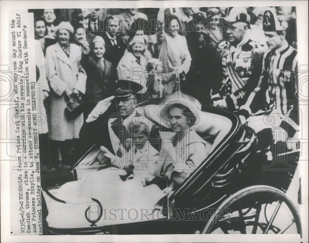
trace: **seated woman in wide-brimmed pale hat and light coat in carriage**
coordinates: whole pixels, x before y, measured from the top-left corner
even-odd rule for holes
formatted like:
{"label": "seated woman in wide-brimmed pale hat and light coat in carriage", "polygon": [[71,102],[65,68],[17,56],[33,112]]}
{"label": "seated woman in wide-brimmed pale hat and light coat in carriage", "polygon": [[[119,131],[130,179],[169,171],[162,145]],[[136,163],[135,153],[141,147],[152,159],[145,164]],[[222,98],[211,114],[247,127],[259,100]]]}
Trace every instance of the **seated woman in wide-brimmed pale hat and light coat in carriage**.
{"label": "seated woman in wide-brimmed pale hat and light coat in carriage", "polygon": [[[172,107],[171,107],[172,104]],[[161,154],[173,158],[163,167],[165,177],[174,185],[181,184],[208,156],[211,145],[192,128],[199,122],[201,104],[189,96],[167,103],[165,120],[176,132],[176,146],[162,143]],[[166,114],[166,115],[165,115]]]}

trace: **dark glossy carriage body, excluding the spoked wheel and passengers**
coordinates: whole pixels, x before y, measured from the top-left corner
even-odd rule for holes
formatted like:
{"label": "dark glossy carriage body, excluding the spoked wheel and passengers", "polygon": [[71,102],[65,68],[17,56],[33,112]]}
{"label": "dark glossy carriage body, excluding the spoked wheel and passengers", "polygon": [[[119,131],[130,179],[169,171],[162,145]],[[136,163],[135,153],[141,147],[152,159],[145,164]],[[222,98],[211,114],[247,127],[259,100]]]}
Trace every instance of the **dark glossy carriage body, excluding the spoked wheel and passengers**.
{"label": "dark glossy carriage body, excluding the spoked wheel and passengers", "polygon": [[[230,124],[222,140],[211,154],[181,186],[160,201],[163,216],[160,219],[135,223],[113,224],[89,228],[51,228],[45,222],[46,234],[188,234],[205,227],[214,210],[229,196],[253,186],[267,185],[281,191],[287,190],[297,165],[297,153],[288,154],[288,161],[271,170],[265,151],[257,150],[256,137],[251,129],[241,126],[239,118],[229,112],[213,107],[202,107],[204,118],[220,116]],[[201,134],[202,137],[202,134]],[[270,138],[271,139],[271,138]],[[95,145],[79,151],[80,158]],[[86,151],[86,152],[85,152]],[[81,153],[84,153],[81,155]],[[295,159],[296,158],[296,159]],[[296,162],[295,162],[296,161]],[[78,164],[78,163],[77,163]],[[73,169],[76,178],[76,167]],[[48,192],[47,192],[48,193]],[[52,196],[52,195],[51,195]],[[47,208],[45,208],[47,211]],[[46,212],[48,213],[48,212]],[[46,215],[45,217],[46,218]]]}

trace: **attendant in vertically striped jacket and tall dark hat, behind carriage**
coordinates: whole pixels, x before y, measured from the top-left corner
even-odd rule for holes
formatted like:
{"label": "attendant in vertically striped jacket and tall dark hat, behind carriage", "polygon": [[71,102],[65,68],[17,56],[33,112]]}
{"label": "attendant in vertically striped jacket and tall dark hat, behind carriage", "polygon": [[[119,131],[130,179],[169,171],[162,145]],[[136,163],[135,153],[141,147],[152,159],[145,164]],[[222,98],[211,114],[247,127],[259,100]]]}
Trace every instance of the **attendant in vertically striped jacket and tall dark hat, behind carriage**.
{"label": "attendant in vertically striped jacket and tall dark hat, behind carriage", "polygon": [[[265,131],[265,128],[271,128],[274,144],[297,138],[299,131],[297,88],[295,88],[297,50],[286,41],[285,29],[286,23],[278,20],[272,8],[264,12],[263,31],[269,51],[264,54],[262,73],[256,89],[239,110],[242,123],[250,115],[260,110],[265,111],[266,115],[250,117],[248,126],[260,133]],[[269,124],[269,119],[273,123]],[[261,139],[263,137],[265,136],[260,136]],[[296,142],[288,142],[286,146],[293,150],[298,147]]]}

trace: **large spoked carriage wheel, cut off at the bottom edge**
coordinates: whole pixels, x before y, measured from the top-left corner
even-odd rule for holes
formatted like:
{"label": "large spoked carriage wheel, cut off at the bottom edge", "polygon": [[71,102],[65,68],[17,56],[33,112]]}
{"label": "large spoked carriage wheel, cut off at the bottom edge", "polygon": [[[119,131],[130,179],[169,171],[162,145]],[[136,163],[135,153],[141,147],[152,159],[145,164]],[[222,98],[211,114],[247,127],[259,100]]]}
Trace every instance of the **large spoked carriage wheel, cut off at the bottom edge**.
{"label": "large spoked carriage wheel, cut off at the bottom edge", "polygon": [[251,186],[228,197],[214,212],[202,234],[300,234],[293,202],[270,186]]}

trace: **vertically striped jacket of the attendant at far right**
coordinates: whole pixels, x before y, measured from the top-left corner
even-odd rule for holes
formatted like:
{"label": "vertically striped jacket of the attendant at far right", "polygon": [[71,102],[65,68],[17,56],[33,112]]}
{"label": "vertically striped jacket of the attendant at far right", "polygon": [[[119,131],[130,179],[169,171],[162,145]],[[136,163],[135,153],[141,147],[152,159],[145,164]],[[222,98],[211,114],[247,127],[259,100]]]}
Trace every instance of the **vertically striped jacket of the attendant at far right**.
{"label": "vertically striped jacket of the attendant at far right", "polygon": [[240,107],[239,115],[248,118],[259,110],[273,112],[281,117],[276,122],[280,127],[293,128],[288,129],[288,134],[293,136],[299,123],[297,65],[297,50],[287,41],[277,50],[265,53],[259,83]]}

